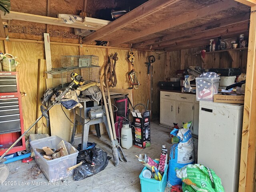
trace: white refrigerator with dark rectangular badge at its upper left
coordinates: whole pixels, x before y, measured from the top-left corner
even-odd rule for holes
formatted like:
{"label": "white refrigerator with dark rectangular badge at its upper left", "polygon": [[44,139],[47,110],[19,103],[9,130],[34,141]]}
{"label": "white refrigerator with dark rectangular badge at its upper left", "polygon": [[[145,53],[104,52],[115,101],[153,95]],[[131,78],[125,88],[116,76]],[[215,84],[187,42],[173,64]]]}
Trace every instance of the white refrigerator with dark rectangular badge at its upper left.
{"label": "white refrigerator with dark rectangular badge at its upper left", "polygon": [[199,104],[198,164],[213,169],[226,192],[238,192],[244,105]]}

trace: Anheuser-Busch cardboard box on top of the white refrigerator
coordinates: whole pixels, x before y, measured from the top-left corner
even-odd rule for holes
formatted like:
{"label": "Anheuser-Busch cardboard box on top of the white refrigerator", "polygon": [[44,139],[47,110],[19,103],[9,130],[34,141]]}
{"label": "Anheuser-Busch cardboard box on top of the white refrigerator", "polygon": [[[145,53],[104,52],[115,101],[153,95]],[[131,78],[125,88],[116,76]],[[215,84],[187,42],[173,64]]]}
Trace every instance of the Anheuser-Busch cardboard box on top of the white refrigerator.
{"label": "Anheuser-Busch cardboard box on top of the white refrigerator", "polygon": [[231,94],[231,93],[218,93],[214,95],[214,102],[217,103],[234,103],[234,104],[244,104],[244,95]]}

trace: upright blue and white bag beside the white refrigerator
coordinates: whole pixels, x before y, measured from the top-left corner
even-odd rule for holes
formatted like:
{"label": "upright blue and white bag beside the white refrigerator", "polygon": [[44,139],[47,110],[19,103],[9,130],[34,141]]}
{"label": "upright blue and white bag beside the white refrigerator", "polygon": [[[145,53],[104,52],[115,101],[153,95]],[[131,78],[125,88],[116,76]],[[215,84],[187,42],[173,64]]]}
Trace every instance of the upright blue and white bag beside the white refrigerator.
{"label": "upright blue and white bag beside the white refrigerator", "polygon": [[174,129],[171,134],[177,136],[180,140],[178,144],[174,144],[170,149],[169,167],[167,175],[168,186],[181,185],[182,180],[176,176],[176,171],[185,165],[194,164],[194,139],[189,129]]}

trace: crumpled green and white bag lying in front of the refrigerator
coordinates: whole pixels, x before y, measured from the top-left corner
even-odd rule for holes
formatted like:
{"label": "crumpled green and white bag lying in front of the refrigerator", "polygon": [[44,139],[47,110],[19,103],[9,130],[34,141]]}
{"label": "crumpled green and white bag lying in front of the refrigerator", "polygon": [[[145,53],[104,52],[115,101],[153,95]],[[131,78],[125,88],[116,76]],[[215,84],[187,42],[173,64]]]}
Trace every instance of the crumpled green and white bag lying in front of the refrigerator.
{"label": "crumpled green and white bag lying in front of the refrigerator", "polygon": [[188,164],[176,170],[176,176],[184,183],[183,192],[225,192],[214,170],[201,164]]}

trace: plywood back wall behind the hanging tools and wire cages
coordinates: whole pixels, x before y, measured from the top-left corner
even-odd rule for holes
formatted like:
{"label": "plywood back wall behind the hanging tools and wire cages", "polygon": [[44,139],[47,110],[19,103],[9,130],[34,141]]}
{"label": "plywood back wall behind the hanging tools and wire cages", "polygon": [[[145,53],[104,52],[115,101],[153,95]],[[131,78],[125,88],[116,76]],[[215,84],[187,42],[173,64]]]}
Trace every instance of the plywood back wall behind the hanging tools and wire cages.
{"label": "plywood back wall behind the hanging tools and wire cages", "polygon": [[[16,42],[17,40],[10,40],[4,47],[4,42],[0,41],[0,50],[5,53],[5,48],[8,48],[8,53],[17,56],[17,61],[20,64],[17,67],[19,73],[20,91],[25,92],[27,96],[22,97],[22,112],[24,116],[24,129],[26,130],[35,120],[37,114],[37,88],[38,88],[38,59],[44,59],[44,44],[43,42]],[[19,40],[20,41],[20,40]],[[51,44],[51,56],[52,66],[54,68],[60,67],[60,56],[62,55],[79,55],[78,44]],[[127,89],[128,84],[128,66],[127,59],[129,50],[118,48],[105,48],[96,46],[83,46],[82,53],[84,55],[96,55],[99,56],[99,65],[103,67],[106,65],[107,55],[118,53],[118,61],[116,64],[117,73],[117,86],[116,88]],[[134,69],[138,72],[138,80],[140,82],[140,88],[133,90],[133,103],[147,104],[147,100],[150,99],[150,76],[147,75],[147,68],[145,62],[148,61],[148,56],[154,54],[156,56],[156,62],[153,66],[153,103],[152,110],[154,114],[159,113],[159,92],[157,83],[162,80],[164,71],[164,54],[161,55],[160,60],[157,59],[157,54],[150,51],[138,51],[134,50],[136,60],[134,62]],[[103,70],[101,72],[103,79]],[[150,108],[150,105],[149,105]],[[142,108],[138,108],[142,109]],[[61,111],[62,112],[62,111]],[[35,133],[35,128],[28,133]]]}

